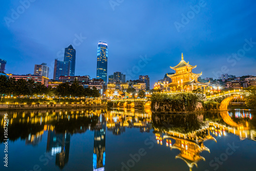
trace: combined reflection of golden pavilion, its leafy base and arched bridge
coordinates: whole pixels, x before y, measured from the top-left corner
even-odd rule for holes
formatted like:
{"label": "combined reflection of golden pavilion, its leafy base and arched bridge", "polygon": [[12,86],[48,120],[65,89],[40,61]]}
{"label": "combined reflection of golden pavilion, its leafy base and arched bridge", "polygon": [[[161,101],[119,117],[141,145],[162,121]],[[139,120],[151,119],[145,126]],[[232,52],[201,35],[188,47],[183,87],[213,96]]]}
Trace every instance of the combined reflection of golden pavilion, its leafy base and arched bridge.
{"label": "combined reflection of golden pavilion, its leafy base and arched bridge", "polygon": [[[198,167],[198,161],[205,158],[200,156],[203,151],[210,152],[204,145],[207,140],[217,140],[212,136],[226,136],[232,133],[240,137],[241,140],[248,138],[256,140],[255,122],[251,122],[250,113],[243,111],[243,116],[247,119],[232,120],[233,112],[220,113],[197,113],[188,115],[179,114],[153,114],[153,129],[157,143],[162,145],[166,141],[166,147],[179,149],[180,154],[175,158],[183,160],[189,170],[194,166]],[[242,116],[239,112],[235,112]],[[245,118],[245,119],[244,119]],[[249,119],[249,120],[248,120]]]}

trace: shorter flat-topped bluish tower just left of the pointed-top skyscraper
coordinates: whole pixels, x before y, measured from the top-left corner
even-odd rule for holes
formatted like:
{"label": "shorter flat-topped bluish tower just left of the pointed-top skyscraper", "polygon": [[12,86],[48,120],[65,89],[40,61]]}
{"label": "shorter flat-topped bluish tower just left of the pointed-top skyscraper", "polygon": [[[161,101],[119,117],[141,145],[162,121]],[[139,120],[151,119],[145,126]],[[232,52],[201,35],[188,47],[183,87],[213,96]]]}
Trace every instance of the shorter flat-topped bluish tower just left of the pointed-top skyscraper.
{"label": "shorter flat-topped bluish tower just left of the pointed-top skyscraper", "polygon": [[69,76],[70,61],[60,61],[55,59],[53,79],[59,80],[60,76]]}

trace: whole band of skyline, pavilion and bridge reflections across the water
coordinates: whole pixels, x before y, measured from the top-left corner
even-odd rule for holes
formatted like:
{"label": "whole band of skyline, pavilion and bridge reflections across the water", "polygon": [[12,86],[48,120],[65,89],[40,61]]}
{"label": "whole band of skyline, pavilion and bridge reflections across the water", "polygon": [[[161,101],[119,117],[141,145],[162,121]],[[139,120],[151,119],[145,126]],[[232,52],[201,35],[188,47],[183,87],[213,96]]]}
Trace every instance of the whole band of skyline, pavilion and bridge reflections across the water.
{"label": "whole band of skyline, pavilion and bridge reflections across the water", "polygon": [[4,113],[8,113],[9,118],[9,140],[15,142],[20,138],[25,140],[26,145],[37,149],[44,142],[42,136],[47,134],[46,152],[55,158],[55,164],[60,169],[69,162],[71,142],[76,141],[72,135],[87,131],[94,132],[90,155],[91,168],[97,171],[106,167],[106,132],[120,137],[125,136],[130,128],[141,133],[153,131],[155,142],[163,148],[178,149],[179,154],[172,157],[184,161],[190,170],[194,166],[200,167],[200,160],[207,160],[201,155],[203,151],[210,152],[204,145],[205,141],[217,142],[217,137],[228,134],[237,135],[241,140],[256,141],[255,117],[246,110],[166,115],[152,114],[148,109],[74,109],[0,112],[1,143],[4,141]]}

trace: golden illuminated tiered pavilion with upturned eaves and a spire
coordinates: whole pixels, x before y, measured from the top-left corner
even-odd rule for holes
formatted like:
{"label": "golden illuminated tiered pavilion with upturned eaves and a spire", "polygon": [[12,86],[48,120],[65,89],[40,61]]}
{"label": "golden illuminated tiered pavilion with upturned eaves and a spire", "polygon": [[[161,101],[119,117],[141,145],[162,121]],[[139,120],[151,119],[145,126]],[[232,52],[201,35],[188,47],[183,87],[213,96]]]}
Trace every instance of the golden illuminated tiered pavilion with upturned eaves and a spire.
{"label": "golden illuminated tiered pavilion with upturned eaves and a spire", "polygon": [[170,67],[175,70],[175,74],[167,74],[167,76],[172,79],[172,82],[166,82],[163,86],[166,86],[170,91],[181,92],[189,92],[203,88],[205,93],[205,87],[208,86],[209,82],[202,83],[198,81],[198,77],[202,75],[202,72],[200,74],[194,74],[192,70],[196,67],[197,66],[191,66],[188,62],[185,62],[182,54],[180,63],[175,67]]}

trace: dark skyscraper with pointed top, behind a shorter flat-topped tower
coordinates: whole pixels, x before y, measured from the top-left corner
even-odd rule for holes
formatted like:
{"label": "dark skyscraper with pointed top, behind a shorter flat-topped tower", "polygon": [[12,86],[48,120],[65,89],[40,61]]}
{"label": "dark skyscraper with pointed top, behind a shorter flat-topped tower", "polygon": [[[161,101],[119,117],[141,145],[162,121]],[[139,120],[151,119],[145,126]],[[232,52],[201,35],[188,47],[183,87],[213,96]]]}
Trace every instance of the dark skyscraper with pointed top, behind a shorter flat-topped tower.
{"label": "dark skyscraper with pointed top, behind a shorter flat-topped tower", "polygon": [[70,61],[69,76],[75,76],[76,50],[72,45],[70,45],[68,48],[65,48],[64,61]]}

